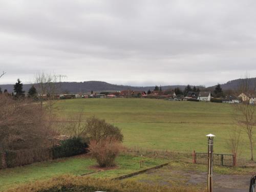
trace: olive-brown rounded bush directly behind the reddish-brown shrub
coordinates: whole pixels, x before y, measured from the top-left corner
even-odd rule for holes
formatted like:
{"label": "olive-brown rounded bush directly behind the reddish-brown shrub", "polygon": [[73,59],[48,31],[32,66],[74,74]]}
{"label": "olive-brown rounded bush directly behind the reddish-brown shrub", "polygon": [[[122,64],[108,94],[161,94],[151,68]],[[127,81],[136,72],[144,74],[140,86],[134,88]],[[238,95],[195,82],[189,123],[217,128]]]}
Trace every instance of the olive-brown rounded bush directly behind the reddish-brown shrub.
{"label": "olive-brown rounded bush directly behind the reddish-brown shrub", "polygon": [[96,140],[106,139],[107,137],[114,137],[118,141],[123,140],[121,130],[112,124],[106,123],[103,119],[92,117],[87,120],[87,134],[90,139]]}

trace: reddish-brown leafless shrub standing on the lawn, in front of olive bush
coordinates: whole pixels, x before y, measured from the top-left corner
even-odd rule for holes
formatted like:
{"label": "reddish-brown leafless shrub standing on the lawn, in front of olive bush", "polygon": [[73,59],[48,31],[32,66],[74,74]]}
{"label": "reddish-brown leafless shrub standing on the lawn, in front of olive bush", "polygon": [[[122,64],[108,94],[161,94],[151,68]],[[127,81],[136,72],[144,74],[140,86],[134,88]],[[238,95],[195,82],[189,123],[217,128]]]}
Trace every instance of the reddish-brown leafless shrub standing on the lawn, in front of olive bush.
{"label": "reddish-brown leafless shrub standing on the lawn, in front of olive bush", "polygon": [[120,141],[115,138],[108,137],[90,141],[89,151],[93,158],[97,160],[100,167],[115,166],[115,159],[122,150]]}

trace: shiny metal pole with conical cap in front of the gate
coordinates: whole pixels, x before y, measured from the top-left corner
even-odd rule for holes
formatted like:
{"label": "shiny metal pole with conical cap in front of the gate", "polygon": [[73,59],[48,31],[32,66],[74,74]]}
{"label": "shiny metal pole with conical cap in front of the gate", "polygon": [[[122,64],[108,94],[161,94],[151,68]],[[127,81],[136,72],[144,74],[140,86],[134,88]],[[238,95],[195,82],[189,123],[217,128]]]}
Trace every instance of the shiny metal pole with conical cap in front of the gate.
{"label": "shiny metal pole with conical cap in front of the gate", "polygon": [[208,138],[208,192],[214,191],[214,183],[212,180],[213,165],[214,165],[214,137],[215,135],[206,135]]}

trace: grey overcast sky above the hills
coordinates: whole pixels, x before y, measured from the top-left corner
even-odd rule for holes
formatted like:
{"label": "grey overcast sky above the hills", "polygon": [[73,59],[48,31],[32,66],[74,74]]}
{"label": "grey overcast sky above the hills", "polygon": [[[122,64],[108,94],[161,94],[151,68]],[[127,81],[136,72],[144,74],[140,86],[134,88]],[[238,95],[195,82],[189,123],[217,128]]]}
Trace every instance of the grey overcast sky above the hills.
{"label": "grey overcast sky above the hills", "polygon": [[256,76],[256,1],[0,0],[0,84],[204,84]]}

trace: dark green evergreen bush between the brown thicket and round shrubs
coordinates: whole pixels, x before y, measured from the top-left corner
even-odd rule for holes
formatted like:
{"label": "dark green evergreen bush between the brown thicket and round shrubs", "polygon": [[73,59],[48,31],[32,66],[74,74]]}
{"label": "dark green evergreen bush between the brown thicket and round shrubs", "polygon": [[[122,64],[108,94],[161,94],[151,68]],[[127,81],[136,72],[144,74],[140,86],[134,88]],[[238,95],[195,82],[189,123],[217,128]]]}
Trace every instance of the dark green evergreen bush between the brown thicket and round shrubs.
{"label": "dark green evergreen bush between the brown thicket and round shrubs", "polygon": [[60,145],[52,148],[53,159],[86,153],[87,147],[88,144],[79,137],[63,140]]}

